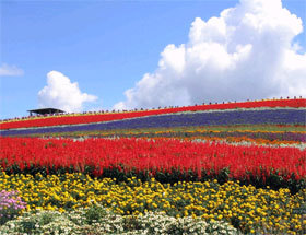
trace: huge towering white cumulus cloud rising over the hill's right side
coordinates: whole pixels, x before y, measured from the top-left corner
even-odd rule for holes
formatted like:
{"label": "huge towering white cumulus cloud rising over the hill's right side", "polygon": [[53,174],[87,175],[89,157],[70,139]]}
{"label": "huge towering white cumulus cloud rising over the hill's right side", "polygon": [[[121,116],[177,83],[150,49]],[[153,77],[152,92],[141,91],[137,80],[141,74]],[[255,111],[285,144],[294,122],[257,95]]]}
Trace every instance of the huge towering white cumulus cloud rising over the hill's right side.
{"label": "huge towering white cumulus cloud rising over the hill's right side", "polygon": [[293,45],[302,31],[281,0],[240,0],[207,22],[197,17],[188,42],[166,46],[155,72],[114,108],[305,95],[306,54]]}

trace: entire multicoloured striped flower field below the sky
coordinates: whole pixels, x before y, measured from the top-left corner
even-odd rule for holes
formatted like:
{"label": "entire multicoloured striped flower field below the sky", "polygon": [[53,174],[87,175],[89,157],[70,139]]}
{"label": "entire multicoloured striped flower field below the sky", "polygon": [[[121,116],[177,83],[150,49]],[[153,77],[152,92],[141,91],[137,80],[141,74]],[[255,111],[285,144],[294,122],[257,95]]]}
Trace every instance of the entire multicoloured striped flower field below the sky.
{"label": "entire multicoloured striped flower field below the sky", "polygon": [[3,120],[0,234],[305,234],[305,117],[301,98]]}

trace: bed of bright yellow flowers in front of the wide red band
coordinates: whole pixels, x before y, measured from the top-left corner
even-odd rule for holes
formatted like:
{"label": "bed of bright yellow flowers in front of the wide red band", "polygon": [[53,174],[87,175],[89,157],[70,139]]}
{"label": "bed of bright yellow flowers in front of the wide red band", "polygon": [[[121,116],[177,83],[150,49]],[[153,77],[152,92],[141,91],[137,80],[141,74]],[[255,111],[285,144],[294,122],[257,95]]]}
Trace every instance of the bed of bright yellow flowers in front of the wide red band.
{"label": "bed of bright yellow flowers in front of the wide red band", "polygon": [[279,191],[256,189],[228,181],[160,184],[154,178],[142,183],[130,178],[93,179],[82,174],[7,175],[0,173],[0,188],[19,190],[27,203],[27,211],[37,209],[67,211],[86,208],[99,202],[114,212],[142,215],[146,212],[165,212],[181,218],[224,220],[242,232],[275,232],[296,234],[305,227],[302,215],[294,214],[305,202],[306,189],[292,196],[289,189]]}

